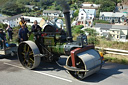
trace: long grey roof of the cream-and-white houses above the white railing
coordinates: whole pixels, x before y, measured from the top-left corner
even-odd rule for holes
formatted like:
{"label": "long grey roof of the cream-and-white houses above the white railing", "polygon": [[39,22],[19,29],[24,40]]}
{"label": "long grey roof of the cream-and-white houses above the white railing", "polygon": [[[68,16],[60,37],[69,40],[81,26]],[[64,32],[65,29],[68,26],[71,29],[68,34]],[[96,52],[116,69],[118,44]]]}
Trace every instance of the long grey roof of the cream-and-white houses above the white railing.
{"label": "long grey roof of the cream-and-white houses above the white railing", "polygon": [[127,25],[113,25],[113,24],[96,23],[95,27],[100,27],[101,29],[105,29],[105,30],[109,30],[109,29],[128,30]]}

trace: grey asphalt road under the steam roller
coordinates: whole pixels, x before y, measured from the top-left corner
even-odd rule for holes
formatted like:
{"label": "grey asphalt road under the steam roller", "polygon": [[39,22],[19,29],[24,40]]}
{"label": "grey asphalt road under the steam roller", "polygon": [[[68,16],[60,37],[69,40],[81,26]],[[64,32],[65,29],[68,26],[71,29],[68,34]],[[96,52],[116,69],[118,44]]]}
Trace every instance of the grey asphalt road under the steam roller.
{"label": "grey asphalt road under the steam roller", "polygon": [[[65,58],[61,59],[65,63]],[[74,79],[56,63],[24,69],[16,58],[0,58],[0,85],[128,85],[128,65],[105,63],[83,81]]]}

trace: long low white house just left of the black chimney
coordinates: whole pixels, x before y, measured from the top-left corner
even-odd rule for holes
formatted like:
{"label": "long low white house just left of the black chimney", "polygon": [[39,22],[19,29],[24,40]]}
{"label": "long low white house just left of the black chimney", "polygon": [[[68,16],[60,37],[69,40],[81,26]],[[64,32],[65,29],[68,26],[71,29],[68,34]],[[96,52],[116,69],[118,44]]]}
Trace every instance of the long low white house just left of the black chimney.
{"label": "long low white house just left of the black chimney", "polygon": [[46,17],[59,17],[61,15],[61,11],[59,10],[44,10],[43,16]]}

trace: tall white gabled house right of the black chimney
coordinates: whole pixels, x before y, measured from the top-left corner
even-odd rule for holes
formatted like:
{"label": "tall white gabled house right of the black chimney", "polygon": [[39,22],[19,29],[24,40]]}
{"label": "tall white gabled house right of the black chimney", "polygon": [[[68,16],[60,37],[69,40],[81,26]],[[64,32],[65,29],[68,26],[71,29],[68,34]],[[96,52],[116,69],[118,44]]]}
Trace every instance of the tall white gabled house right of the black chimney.
{"label": "tall white gabled house right of the black chimney", "polygon": [[92,26],[93,19],[96,16],[95,9],[83,9],[79,10],[77,25]]}

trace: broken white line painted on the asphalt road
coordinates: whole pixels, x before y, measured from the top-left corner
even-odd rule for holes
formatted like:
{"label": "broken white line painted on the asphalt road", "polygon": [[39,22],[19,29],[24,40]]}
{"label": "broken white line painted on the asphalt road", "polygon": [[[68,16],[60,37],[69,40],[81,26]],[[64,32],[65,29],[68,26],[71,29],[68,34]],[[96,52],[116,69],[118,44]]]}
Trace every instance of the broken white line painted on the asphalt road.
{"label": "broken white line painted on the asphalt road", "polygon": [[[9,66],[13,66],[13,67],[16,67],[16,68],[25,69],[24,67],[20,67],[20,66],[17,66],[17,65],[9,64],[9,63],[4,63],[4,64],[9,65]],[[38,73],[38,74],[42,74],[42,75],[46,75],[46,76],[49,76],[49,77],[53,77],[53,78],[56,78],[56,79],[64,80],[64,81],[67,81],[67,82],[72,82],[72,80],[65,79],[65,78],[58,77],[58,76],[54,76],[54,75],[51,75],[51,74],[48,74],[48,73],[44,73],[44,72],[40,72],[40,71],[33,71],[33,72]]]}

